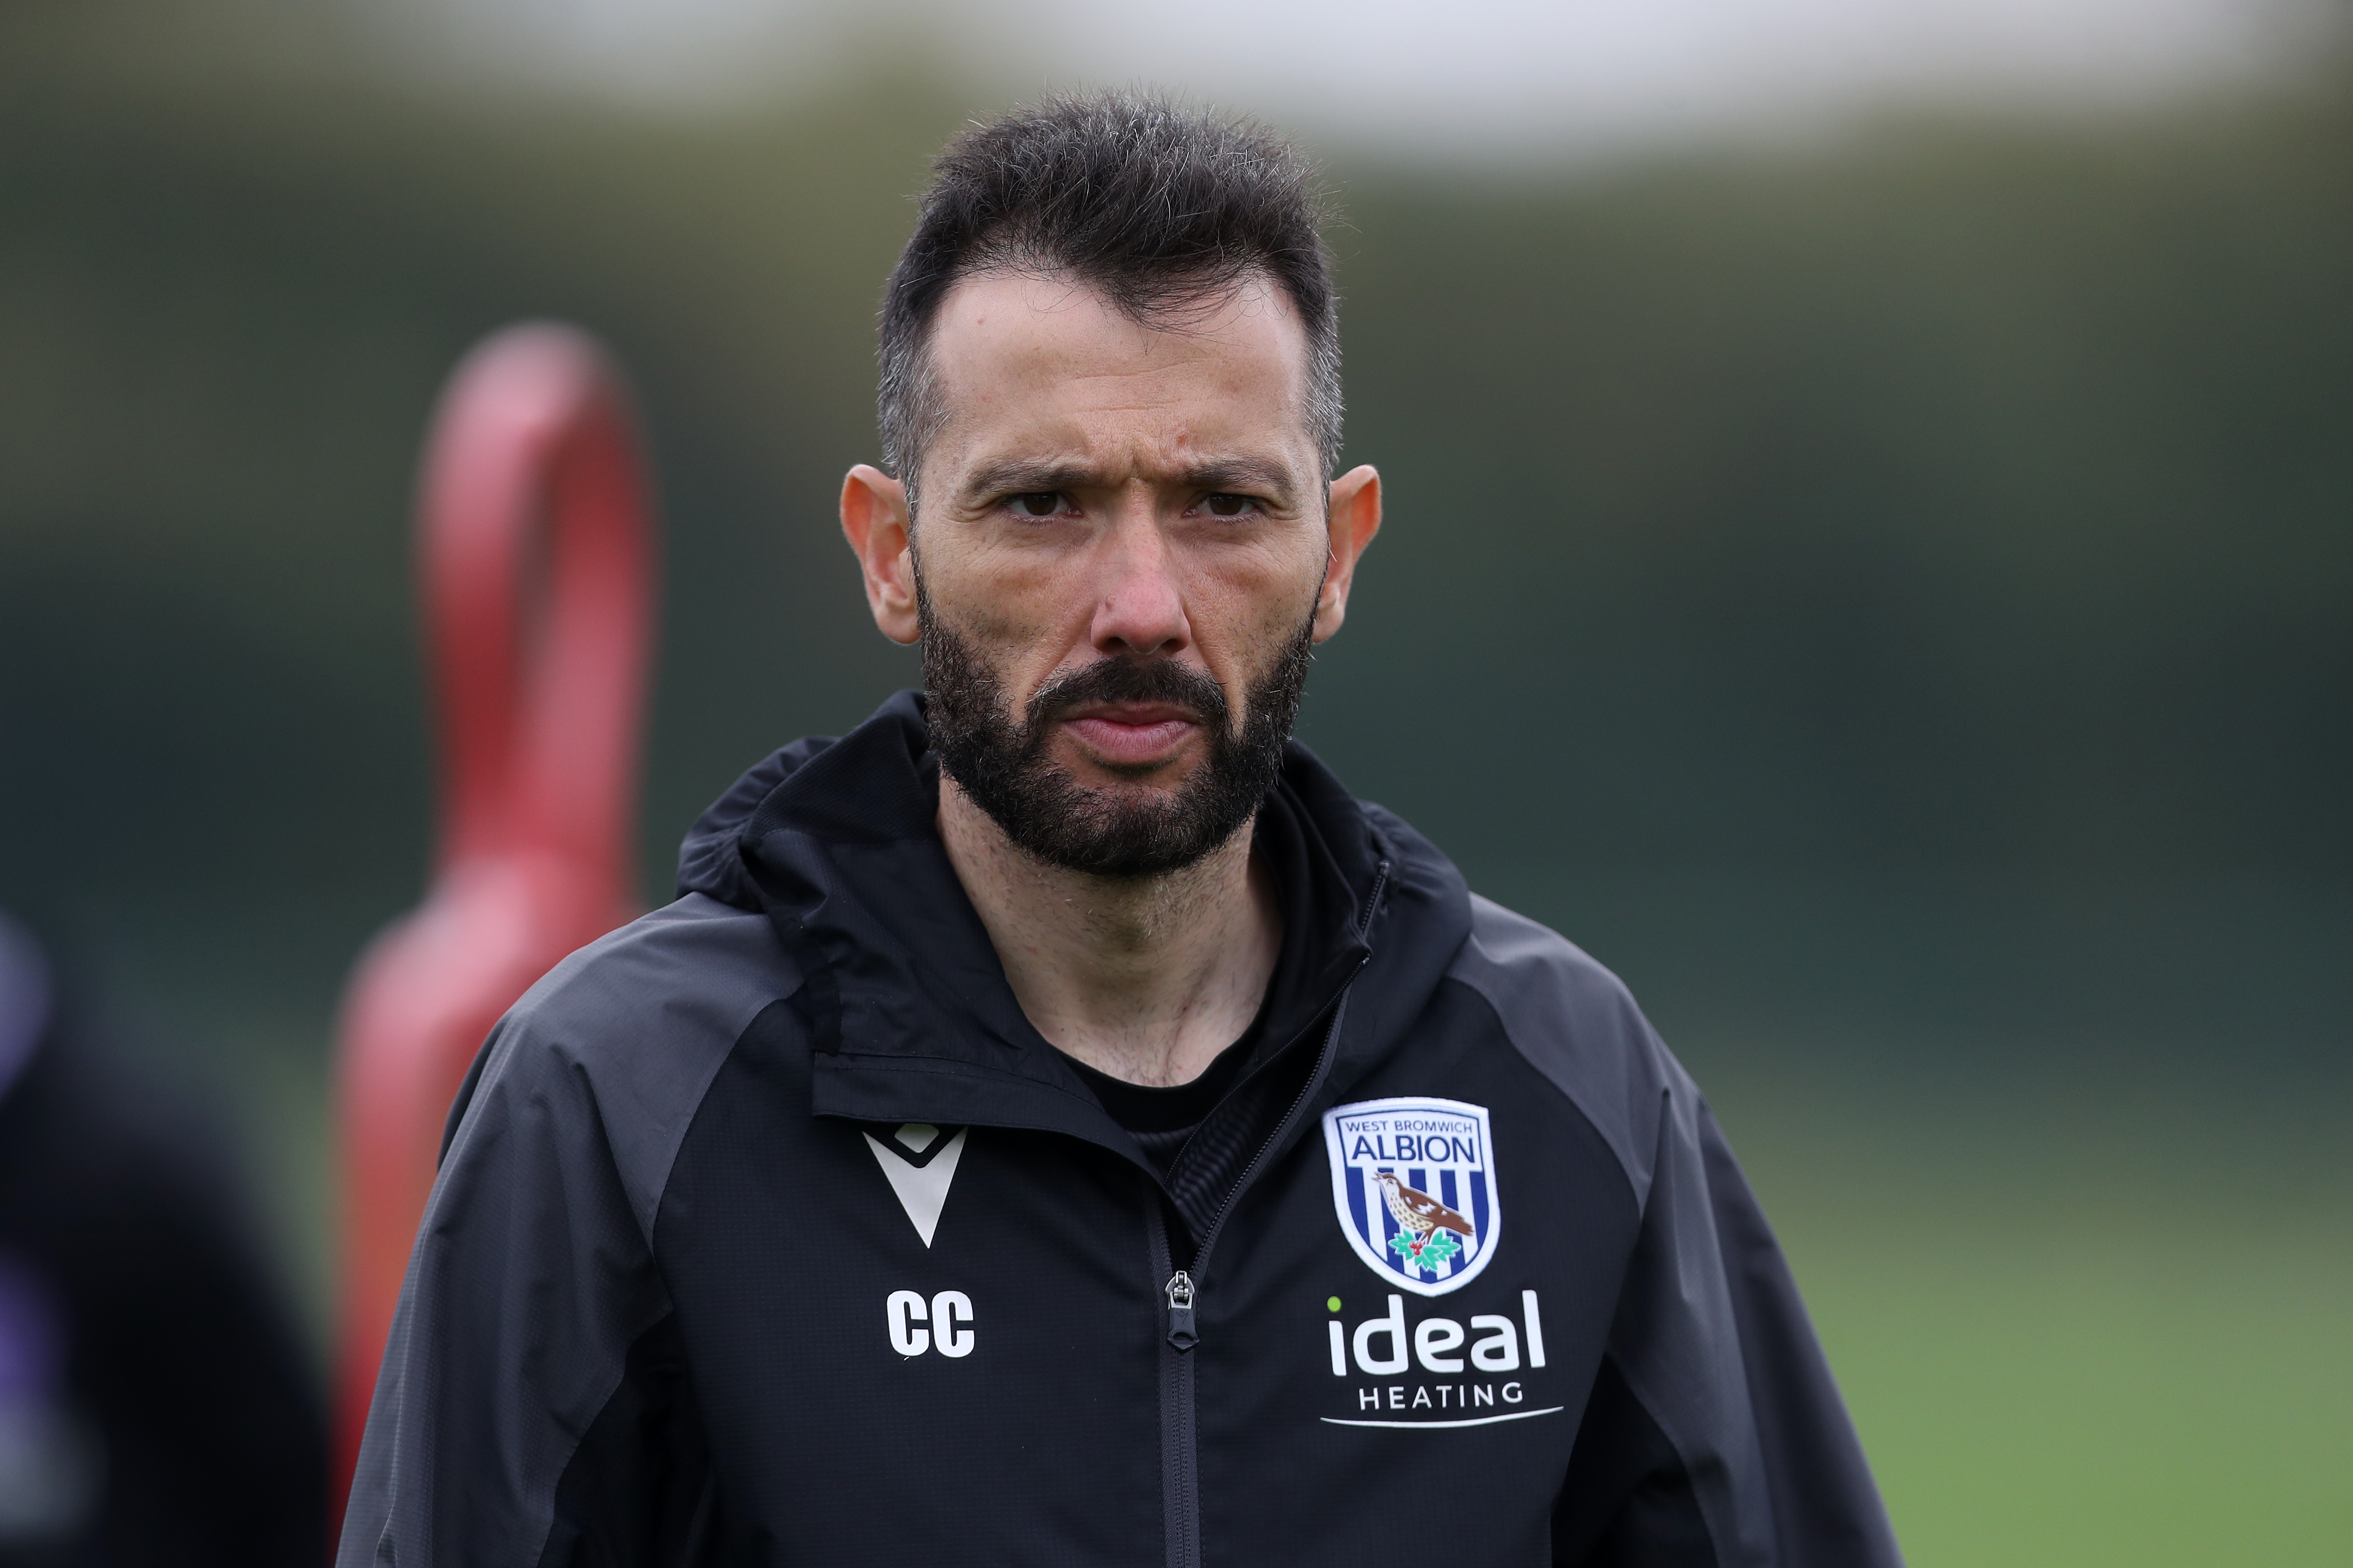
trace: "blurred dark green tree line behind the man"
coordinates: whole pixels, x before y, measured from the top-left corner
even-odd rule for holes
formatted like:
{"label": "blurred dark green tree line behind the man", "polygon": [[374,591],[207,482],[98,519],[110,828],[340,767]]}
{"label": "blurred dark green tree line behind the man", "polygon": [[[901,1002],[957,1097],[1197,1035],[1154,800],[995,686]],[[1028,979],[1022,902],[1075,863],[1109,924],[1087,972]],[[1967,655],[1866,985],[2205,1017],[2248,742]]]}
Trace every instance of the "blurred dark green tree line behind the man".
{"label": "blurred dark green tree line behind the man", "polygon": [[[513,317],[600,331],[654,430],[649,896],[736,769],[913,679],[831,498],[906,197],[993,101],[626,115],[266,5],[0,16],[0,903],[325,1006],[424,870],[419,433]],[[1306,738],[1668,990],[1819,917],[1934,1016],[2073,931],[2108,1001],[2273,964],[2341,1034],[2348,132],[2327,68],[1609,167],[1327,148],[1391,512]]]}

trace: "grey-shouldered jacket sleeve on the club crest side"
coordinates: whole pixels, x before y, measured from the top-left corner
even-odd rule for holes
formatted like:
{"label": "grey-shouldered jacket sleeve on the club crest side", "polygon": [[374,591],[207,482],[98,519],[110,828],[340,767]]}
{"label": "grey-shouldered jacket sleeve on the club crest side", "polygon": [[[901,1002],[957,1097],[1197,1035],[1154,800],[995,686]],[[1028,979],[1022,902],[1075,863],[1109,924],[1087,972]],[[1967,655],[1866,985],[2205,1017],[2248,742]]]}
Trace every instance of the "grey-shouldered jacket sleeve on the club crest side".
{"label": "grey-shouldered jacket sleeve on the club crest side", "polygon": [[1781,1248],[1689,1074],[1577,945],[1485,898],[1449,971],[1609,1145],[1635,1239],[1553,1509],[1553,1561],[1901,1563]]}

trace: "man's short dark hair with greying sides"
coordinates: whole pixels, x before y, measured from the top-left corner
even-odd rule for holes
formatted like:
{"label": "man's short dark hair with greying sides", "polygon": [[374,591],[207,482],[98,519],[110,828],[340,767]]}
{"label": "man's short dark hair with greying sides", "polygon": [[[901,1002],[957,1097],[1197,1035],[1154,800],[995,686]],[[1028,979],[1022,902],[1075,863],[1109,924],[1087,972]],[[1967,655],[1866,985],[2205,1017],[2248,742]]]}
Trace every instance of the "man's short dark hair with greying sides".
{"label": "man's short dark hair with greying sides", "polygon": [[1134,92],[1064,94],[960,132],[932,165],[915,235],[882,296],[882,461],[913,494],[946,409],[932,322],[991,268],[1068,273],[1134,320],[1264,275],[1308,339],[1308,428],[1339,463],[1339,294],[1315,165],[1252,120]]}

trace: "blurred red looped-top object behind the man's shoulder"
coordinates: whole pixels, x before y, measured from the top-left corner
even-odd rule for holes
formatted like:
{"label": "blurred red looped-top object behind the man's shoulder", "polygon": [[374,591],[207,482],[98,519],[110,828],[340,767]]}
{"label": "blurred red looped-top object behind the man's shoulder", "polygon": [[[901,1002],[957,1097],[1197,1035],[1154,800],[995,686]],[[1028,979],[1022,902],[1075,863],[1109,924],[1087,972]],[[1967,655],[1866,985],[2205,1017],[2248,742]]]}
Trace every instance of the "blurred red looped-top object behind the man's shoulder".
{"label": "blurred red looped-top object behind the man's shoulder", "polygon": [[344,999],[336,1519],[452,1095],[539,976],[638,912],[654,527],[628,395],[586,334],[508,327],[466,355],[416,529],[440,844]]}

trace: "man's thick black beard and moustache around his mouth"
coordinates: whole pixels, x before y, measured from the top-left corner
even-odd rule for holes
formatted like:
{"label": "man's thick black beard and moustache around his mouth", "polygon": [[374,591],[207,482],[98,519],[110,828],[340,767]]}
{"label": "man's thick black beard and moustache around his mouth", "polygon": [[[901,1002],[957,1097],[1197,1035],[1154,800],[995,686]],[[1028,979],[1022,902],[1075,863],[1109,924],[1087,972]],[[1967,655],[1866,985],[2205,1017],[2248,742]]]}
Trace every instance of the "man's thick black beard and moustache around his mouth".
{"label": "man's thick black beard and moustache around his mouth", "polygon": [[[1275,663],[1252,682],[1242,719],[1205,672],[1162,656],[1111,656],[1040,686],[1016,717],[998,670],[934,614],[915,585],[932,748],[1014,844],[1049,865],[1096,877],[1160,877],[1226,844],[1282,773],[1282,743],[1299,719],[1313,663],[1311,614]],[[1209,738],[1193,776],[1174,788],[1099,790],[1047,755],[1054,726],[1082,703],[1169,703]]]}

